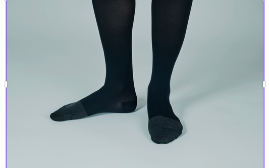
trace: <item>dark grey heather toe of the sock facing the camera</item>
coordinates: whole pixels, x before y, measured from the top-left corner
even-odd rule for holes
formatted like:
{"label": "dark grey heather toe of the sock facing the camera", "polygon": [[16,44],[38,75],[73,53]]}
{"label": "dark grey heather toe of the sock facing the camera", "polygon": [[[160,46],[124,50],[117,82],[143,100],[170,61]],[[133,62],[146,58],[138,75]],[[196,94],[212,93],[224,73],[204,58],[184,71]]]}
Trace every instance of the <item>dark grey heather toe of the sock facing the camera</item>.
{"label": "dark grey heather toe of the sock facing the camera", "polygon": [[169,143],[177,139],[183,130],[179,121],[164,116],[155,116],[148,121],[151,140],[157,144]]}

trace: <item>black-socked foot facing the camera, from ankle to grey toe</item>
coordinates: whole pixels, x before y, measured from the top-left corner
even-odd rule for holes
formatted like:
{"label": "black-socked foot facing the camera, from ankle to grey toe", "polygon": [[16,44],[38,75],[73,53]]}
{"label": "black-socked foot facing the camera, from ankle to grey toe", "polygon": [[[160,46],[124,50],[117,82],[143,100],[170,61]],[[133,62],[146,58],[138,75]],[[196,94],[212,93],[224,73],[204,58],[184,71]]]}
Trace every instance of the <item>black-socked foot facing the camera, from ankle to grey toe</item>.
{"label": "black-socked foot facing the camera, from ankle to grey toe", "polygon": [[155,143],[169,143],[182,134],[183,126],[174,114],[169,94],[148,88],[147,96],[148,131]]}

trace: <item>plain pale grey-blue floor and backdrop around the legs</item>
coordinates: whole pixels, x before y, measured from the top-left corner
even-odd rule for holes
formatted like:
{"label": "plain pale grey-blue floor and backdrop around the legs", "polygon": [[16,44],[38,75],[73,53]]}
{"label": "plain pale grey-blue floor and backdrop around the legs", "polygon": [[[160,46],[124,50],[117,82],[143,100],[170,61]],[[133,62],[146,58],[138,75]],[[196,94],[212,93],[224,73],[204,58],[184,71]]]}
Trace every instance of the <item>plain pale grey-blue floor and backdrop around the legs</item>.
{"label": "plain pale grey-blue floor and backdrop around the legs", "polygon": [[8,1],[8,167],[263,166],[263,2],[193,2],[171,80],[184,130],[169,144],[147,130],[150,3],[136,1],[136,111],[54,122],[104,82],[91,2]]}

